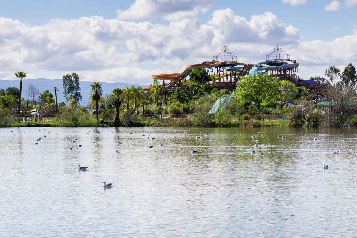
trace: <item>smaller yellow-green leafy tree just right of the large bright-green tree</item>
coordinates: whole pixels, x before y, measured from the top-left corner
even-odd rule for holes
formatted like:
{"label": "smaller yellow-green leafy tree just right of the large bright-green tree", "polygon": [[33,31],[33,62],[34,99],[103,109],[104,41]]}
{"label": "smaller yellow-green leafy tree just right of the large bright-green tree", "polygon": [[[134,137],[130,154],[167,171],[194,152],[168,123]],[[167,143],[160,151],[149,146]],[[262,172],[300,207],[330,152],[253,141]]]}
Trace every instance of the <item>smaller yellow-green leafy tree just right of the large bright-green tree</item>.
{"label": "smaller yellow-green leafy tree just right of the large bright-green tree", "polygon": [[297,93],[297,87],[290,81],[282,80],[279,82],[279,88],[274,97],[274,101],[279,105],[280,110],[288,101],[294,100]]}

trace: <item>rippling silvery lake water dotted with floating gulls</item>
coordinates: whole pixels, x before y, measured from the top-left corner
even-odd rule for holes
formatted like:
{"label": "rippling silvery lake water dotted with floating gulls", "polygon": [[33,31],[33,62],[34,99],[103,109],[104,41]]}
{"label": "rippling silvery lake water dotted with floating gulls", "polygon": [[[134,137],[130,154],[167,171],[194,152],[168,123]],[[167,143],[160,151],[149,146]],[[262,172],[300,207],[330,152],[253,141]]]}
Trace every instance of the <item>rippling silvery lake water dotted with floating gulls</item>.
{"label": "rippling silvery lake water dotted with floating gulls", "polygon": [[187,129],[0,128],[0,237],[356,237],[355,128]]}

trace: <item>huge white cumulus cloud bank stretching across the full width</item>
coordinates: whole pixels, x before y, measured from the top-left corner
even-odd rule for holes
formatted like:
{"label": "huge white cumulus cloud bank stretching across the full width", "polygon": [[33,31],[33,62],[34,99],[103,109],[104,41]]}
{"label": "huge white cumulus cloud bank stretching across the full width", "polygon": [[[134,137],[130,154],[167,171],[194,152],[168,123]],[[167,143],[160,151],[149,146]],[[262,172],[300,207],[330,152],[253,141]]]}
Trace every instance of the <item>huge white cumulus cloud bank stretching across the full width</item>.
{"label": "huge white cumulus cloud bank stretching across the full width", "polygon": [[149,84],[152,74],[180,72],[211,60],[225,45],[247,63],[265,59],[276,44],[302,66],[326,69],[357,61],[356,30],[333,41],[302,41],[296,27],[271,12],[246,19],[231,9],[217,10],[203,24],[197,12],[166,14],[167,24],[92,16],[36,26],[0,18],[0,77],[14,79],[20,69],[34,77],[57,78],[76,71],[85,81]]}

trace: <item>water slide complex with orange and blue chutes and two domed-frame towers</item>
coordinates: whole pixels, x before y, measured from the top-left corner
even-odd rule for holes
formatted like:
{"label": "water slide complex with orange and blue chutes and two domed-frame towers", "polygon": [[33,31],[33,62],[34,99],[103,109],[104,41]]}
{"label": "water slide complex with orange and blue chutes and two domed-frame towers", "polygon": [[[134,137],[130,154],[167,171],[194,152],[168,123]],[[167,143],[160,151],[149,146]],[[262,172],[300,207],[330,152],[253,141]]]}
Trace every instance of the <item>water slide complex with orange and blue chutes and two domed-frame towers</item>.
{"label": "water slide complex with orange and blue chutes and two domed-frame towers", "polygon": [[[300,79],[298,66],[299,64],[296,63],[296,60],[291,60],[290,55],[283,50],[280,45],[277,45],[266,55],[265,61],[256,64],[237,62],[237,56],[224,46],[213,56],[212,61],[204,61],[202,64],[188,65],[185,70],[180,73],[152,75],[152,79],[162,80],[161,90],[162,93],[167,95],[170,91],[175,90],[175,85],[180,86],[180,83],[183,80],[190,79],[193,69],[203,69],[203,75],[209,75],[211,77],[212,80],[210,81],[210,84],[212,87],[229,89],[234,89],[242,76],[269,74],[272,77],[276,77],[278,80],[288,80],[299,88],[305,87],[308,90],[311,90],[306,98],[306,100],[311,101],[316,95],[321,94],[327,87],[327,83],[320,83],[317,80]],[[165,83],[165,80],[169,81],[169,83]],[[321,80],[323,81],[323,79]],[[181,89],[185,90],[184,87],[181,87]],[[232,96],[233,93],[223,104],[222,109],[224,109],[225,104],[229,103]],[[215,113],[216,110],[217,108],[213,106],[210,113]]]}

